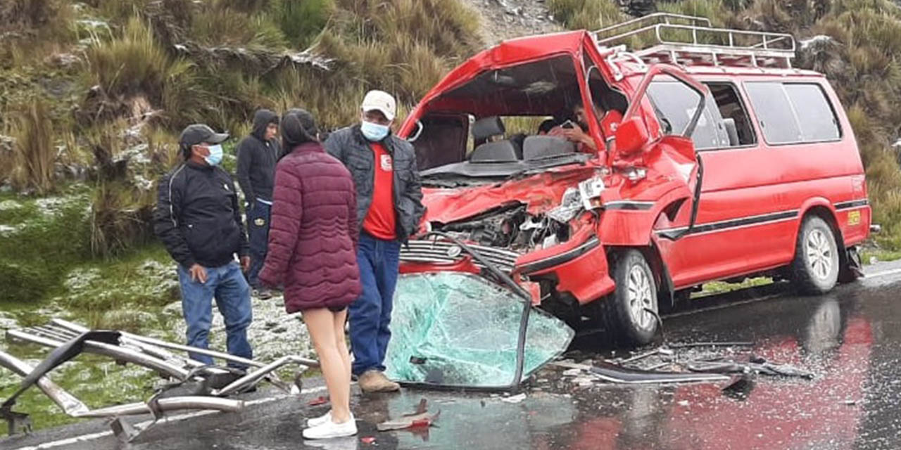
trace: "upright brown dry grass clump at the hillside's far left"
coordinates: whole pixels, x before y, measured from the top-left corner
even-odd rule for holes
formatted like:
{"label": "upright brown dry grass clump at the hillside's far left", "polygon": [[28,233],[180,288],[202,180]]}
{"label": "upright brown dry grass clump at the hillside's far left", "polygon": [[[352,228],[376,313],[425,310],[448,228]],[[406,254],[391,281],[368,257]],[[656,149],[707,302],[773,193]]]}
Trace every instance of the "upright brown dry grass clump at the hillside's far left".
{"label": "upright brown dry grass clump at the hillside's far left", "polygon": [[56,149],[47,104],[34,99],[13,127],[15,139],[10,180],[16,190],[49,193],[53,190]]}

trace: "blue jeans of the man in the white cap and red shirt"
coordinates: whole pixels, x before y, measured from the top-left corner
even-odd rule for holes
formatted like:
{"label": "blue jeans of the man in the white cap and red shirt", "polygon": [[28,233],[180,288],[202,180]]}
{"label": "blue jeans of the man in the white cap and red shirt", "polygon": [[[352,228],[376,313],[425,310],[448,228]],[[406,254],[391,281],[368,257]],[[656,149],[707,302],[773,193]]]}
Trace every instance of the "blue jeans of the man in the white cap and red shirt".
{"label": "blue jeans of the man in the white cap and red shirt", "polygon": [[391,308],[400,265],[400,243],[361,233],[357,248],[363,293],[350,303],[350,348],[353,374],[385,370],[385,351],[391,340]]}

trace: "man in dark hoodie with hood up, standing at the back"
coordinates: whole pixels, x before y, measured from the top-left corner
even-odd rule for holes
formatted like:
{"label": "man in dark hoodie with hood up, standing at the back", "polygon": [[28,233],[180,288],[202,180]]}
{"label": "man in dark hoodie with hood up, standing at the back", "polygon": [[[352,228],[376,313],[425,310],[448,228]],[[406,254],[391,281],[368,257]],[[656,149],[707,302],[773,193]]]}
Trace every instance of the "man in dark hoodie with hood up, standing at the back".
{"label": "man in dark hoodie with hood up, standing at the back", "polygon": [[253,115],[253,130],[238,144],[238,184],[244,192],[247,212],[247,235],[250,239],[250,271],[247,281],[259,299],[272,297],[259,284],[259,270],[266,260],[269,238],[269,213],[276,163],[281,154],[278,145],[278,115],[260,109]]}

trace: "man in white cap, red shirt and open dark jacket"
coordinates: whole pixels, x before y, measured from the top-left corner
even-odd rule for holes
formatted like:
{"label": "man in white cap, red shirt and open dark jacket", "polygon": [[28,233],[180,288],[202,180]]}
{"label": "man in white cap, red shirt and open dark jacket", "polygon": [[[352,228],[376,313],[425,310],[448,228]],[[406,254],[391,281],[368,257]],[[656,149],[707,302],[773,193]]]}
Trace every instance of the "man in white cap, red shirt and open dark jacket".
{"label": "man in white cap, red shirt and open dark jacket", "polygon": [[369,91],[360,107],[360,123],[325,140],[326,151],[347,166],[357,188],[357,262],[363,293],[350,304],[349,317],[352,371],[363,392],[400,389],[384,374],[388,325],[400,246],[419,229],[424,211],[413,146],[391,132],[396,109],[391,94]]}

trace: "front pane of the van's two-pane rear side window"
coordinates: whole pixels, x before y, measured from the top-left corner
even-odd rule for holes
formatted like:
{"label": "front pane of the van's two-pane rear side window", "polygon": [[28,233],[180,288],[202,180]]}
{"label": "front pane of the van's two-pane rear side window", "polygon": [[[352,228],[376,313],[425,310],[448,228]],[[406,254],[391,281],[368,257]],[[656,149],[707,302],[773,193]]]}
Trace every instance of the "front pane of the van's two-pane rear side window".
{"label": "front pane of the van's two-pane rear side window", "polygon": [[747,83],[745,89],[768,143],[787,144],[804,140],[782,83]]}

